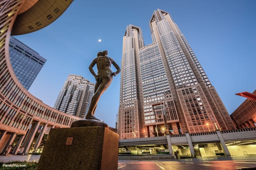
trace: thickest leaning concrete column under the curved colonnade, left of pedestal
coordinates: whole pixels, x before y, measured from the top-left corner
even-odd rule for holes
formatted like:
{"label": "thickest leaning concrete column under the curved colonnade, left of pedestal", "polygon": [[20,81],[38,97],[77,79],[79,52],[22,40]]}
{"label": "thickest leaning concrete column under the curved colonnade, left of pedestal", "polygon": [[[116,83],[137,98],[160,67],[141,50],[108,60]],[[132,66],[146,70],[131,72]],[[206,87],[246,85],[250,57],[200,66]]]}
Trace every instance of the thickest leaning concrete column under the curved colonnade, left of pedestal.
{"label": "thickest leaning concrete column under the curved colonnade, left of pedestal", "polygon": [[25,141],[22,145],[23,147],[25,147],[24,151],[23,151],[24,154],[28,153],[29,148],[31,146],[31,143],[32,143],[34,137],[35,137],[35,134],[36,134],[36,131],[37,131],[39,125],[40,125],[40,122],[37,122],[36,124],[32,124],[31,128],[29,129],[29,132],[28,132],[28,134],[25,138]]}

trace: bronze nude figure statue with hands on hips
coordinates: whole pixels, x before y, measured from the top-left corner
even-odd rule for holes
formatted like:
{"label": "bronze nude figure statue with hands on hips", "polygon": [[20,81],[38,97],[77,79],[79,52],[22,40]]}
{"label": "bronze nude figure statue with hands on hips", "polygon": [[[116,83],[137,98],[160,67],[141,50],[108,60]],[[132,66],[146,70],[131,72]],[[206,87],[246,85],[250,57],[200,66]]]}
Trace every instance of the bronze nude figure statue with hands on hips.
{"label": "bronze nude figure statue with hands on hips", "polygon": [[[101,94],[107,90],[110,83],[113,80],[113,76],[116,76],[120,72],[120,68],[117,63],[110,57],[107,56],[108,51],[98,52],[97,58],[95,58],[89,66],[89,70],[92,75],[95,77],[96,83],[94,87],[94,95],[91,100],[91,104],[88,110],[88,113],[85,116],[85,119],[94,119],[99,120],[94,116],[97,103],[100,99]],[[111,63],[117,69],[116,72],[112,72]],[[93,71],[94,65],[97,64],[98,74],[96,75]]]}

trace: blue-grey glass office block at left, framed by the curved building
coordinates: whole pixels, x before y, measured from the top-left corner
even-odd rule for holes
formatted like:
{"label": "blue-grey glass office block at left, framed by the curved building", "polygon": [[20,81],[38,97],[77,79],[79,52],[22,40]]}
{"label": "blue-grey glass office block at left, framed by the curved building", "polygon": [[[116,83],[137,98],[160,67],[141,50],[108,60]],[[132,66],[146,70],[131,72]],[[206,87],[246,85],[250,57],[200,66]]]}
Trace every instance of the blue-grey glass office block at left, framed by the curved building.
{"label": "blue-grey glass office block at left, framed by the curved building", "polygon": [[10,37],[9,51],[12,69],[23,87],[28,90],[46,59],[14,37]]}

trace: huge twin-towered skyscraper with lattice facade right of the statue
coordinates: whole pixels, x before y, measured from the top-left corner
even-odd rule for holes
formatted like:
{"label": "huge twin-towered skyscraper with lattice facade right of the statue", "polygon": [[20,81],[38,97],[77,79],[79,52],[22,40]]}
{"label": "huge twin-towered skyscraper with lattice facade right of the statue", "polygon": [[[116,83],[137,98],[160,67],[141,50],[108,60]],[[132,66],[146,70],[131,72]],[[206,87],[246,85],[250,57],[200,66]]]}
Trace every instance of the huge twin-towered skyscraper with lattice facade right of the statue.
{"label": "huge twin-towered skyscraper with lattice facade right of the statue", "polygon": [[133,25],[123,38],[120,139],[235,129],[170,14],[157,9],[149,26],[152,44],[145,46],[141,28]]}

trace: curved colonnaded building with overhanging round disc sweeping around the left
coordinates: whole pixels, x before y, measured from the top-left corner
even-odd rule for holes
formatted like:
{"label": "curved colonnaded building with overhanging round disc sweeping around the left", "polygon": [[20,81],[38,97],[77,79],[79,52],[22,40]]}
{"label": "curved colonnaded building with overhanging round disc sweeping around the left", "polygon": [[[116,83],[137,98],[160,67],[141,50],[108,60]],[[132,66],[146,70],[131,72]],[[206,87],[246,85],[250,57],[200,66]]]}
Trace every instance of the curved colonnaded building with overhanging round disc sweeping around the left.
{"label": "curved colonnaded building with overhanging round disc sweeping around the left", "polygon": [[[51,6],[49,4],[47,6],[46,2],[49,1],[42,3],[42,0],[2,0],[0,2],[0,154],[10,153],[10,145],[17,134],[21,137],[12,154],[18,152],[27,154],[38,127],[43,126],[35,143],[33,151],[35,152],[47,127],[67,128],[73,121],[81,119],[58,111],[34,97],[22,86],[12,70],[9,58],[10,34],[29,33],[47,26],[66,10],[72,0],[53,0]],[[28,3],[30,6],[27,5]],[[43,8],[42,5],[48,8]],[[54,11],[56,8],[59,9],[57,13]],[[22,13],[19,10],[22,10]],[[28,17],[33,14],[35,17],[29,19]],[[50,19],[47,18],[49,14],[52,16]],[[29,24],[37,22],[41,23],[40,27],[33,25],[35,29],[28,28]]]}

